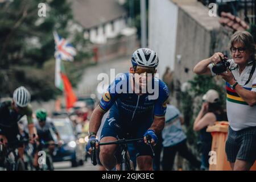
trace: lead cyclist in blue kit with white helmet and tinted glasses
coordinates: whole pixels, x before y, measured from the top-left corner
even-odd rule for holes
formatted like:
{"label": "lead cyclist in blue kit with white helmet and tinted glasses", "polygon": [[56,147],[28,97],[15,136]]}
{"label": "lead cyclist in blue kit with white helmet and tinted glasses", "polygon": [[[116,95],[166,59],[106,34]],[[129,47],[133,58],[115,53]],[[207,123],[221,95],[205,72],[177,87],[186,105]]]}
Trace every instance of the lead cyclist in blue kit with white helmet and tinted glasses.
{"label": "lead cyclist in blue kit with white helmet and tinted glasses", "polygon": [[[121,73],[115,78],[102,97],[100,105],[93,111],[86,150],[91,151],[90,141],[98,142],[96,134],[101,118],[110,109],[102,127],[100,142],[144,137],[144,143],[133,143],[137,164],[139,170],[152,170],[152,151],[146,144],[146,135],[151,136],[151,144],[155,145],[158,141],[156,134],[164,128],[169,90],[155,76],[159,63],[155,51],[140,48],[133,53],[131,63],[133,67],[130,68],[130,73]],[[152,89],[148,88],[149,85]],[[118,159],[115,158],[117,149],[117,145],[101,146],[100,161],[106,169],[115,170],[118,164]]]}

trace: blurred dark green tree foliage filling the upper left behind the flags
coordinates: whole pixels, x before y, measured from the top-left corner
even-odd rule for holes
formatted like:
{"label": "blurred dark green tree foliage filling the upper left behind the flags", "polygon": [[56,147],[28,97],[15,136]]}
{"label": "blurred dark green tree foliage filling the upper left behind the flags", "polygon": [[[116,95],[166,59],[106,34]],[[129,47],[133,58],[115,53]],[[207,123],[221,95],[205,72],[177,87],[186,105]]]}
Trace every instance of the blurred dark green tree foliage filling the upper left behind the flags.
{"label": "blurred dark green tree foliage filling the upper left behind the flags", "polygon": [[[39,3],[46,4],[46,17],[39,17]],[[77,48],[75,62],[84,63],[84,59],[92,56],[85,49],[88,41],[83,38],[83,32],[72,30],[75,26],[71,3],[68,0],[14,0],[0,3],[2,96],[10,95],[20,85],[30,89],[32,100],[49,100],[60,93],[54,86],[54,30]],[[49,60],[52,60],[52,67],[44,67]],[[72,63],[68,67],[73,67]],[[71,79],[77,78],[73,73],[70,73]]]}

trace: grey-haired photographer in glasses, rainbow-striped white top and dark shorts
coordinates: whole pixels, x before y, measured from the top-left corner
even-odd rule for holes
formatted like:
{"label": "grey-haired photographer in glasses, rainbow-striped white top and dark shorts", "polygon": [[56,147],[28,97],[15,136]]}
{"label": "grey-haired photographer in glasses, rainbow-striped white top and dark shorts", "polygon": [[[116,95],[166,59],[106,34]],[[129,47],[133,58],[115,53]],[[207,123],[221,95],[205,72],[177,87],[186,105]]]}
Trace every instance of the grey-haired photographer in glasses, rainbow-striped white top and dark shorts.
{"label": "grey-haired photographer in glasses, rainbow-striped white top and dark shorts", "polygon": [[[233,170],[249,170],[256,160],[256,62],[253,36],[237,31],[230,40],[232,59],[226,72],[226,106],[229,121],[226,155]],[[213,75],[213,67],[224,59],[221,52],[200,61],[193,71]],[[216,68],[216,67],[215,67]]]}

